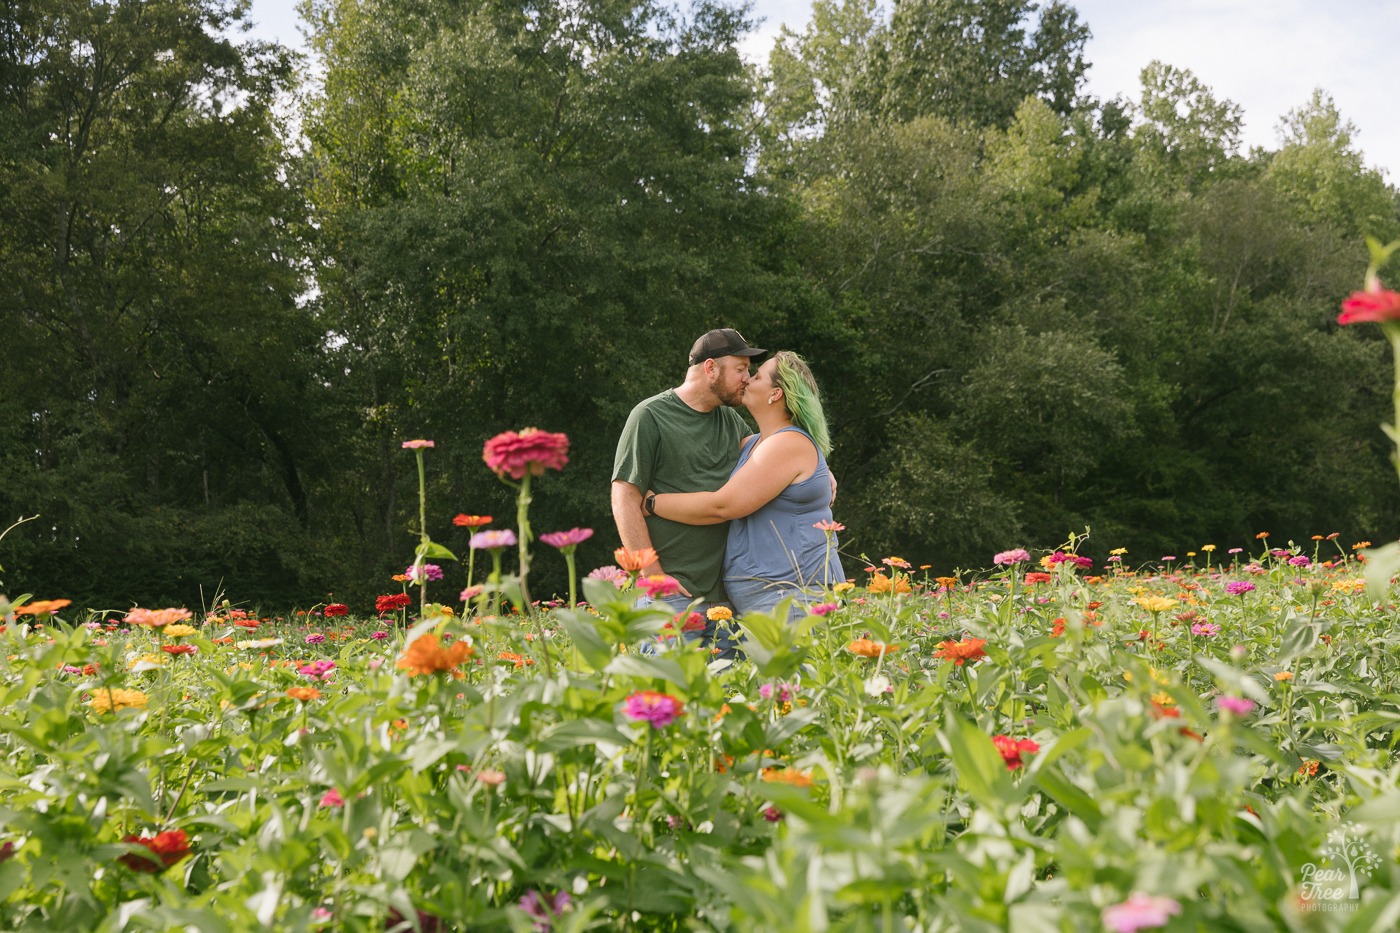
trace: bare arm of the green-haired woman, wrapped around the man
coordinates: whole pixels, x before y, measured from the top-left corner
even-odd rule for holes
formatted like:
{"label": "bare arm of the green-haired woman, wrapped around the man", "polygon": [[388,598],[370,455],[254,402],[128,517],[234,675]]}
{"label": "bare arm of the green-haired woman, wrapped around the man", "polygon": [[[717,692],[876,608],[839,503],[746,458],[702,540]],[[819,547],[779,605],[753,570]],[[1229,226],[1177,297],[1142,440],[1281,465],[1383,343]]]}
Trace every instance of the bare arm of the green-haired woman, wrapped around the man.
{"label": "bare arm of the green-haired woman, wrapped around the man", "polygon": [[686,525],[715,525],[757,511],[813,469],[812,441],[799,431],[783,431],[762,441],[722,488],[713,493],[658,493],[654,510]]}

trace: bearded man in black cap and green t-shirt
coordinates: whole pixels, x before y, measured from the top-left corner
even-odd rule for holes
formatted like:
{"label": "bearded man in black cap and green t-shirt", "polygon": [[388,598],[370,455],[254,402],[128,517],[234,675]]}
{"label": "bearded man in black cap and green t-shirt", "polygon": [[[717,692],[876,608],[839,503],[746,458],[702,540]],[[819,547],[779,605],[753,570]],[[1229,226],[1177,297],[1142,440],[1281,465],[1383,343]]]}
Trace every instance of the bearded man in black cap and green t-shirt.
{"label": "bearded man in black cap and green t-shirt", "polygon": [[[641,573],[666,573],[680,583],[679,609],[701,600],[700,611],[724,605],[724,545],[729,524],[683,525],[643,514],[651,492],[714,492],[729,479],[741,441],[752,433],[734,410],[749,384],[750,347],[734,328],[708,331],[690,347],[685,382],[640,402],[617,441],[612,510],[624,548],[654,548],[658,560]],[[706,621],[706,642],[714,622]]]}

